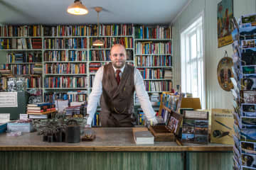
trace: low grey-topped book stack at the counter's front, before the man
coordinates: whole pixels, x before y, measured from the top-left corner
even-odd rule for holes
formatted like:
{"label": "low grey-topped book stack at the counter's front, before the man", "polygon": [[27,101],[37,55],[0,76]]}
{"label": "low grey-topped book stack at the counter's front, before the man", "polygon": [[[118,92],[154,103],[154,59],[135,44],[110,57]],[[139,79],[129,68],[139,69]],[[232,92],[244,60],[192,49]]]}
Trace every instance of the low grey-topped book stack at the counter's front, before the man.
{"label": "low grey-topped book stack at the counter's front, before the man", "polygon": [[132,134],[137,145],[154,144],[154,135],[147,128],[132,128]]}

